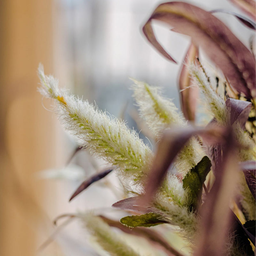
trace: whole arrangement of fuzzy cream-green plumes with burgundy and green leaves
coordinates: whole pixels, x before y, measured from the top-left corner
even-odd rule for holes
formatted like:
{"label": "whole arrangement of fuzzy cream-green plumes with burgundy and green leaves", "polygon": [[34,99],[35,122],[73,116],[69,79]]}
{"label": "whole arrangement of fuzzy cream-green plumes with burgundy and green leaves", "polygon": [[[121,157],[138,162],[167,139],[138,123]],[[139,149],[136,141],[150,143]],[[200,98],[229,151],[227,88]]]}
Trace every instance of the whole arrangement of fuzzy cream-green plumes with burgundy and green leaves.
{"label": "whole arrangement of fuzzy cream-green plumes with burgundy and green leaves", "polygon": [[[240,2],[255,19],[255,2]],[[255,30],[252,20],[235,15]],[[178,227],[193,255],[254,255],[254,54],[212,13],[170,2],[160,4],[143,27],[148,41],[168,60],[174,61],[157,42],[152,20],[192,39],[179,77],[183,116],[159,88],[133,80],[133,97],[156,141],[156,152],[124,121],[71,95],[44,74],[42,65],[38,68],[39,91],[54,100],[65,129],[82,148],[112,166],[84,181],[71,199],[112,171],[130,195],[113,204],[133,214],[120,222],[89,213],[74,216],[109,255],[141,255],[111,227],[144,237],[148,246],[164,253],[159,255],[183,255],[168,243],[162,229],[149,228],[160,224]],[[216,66],[214,74],[201,64],[198,49]],[[205,127],[193,124],[199,92],[212,115]]]}

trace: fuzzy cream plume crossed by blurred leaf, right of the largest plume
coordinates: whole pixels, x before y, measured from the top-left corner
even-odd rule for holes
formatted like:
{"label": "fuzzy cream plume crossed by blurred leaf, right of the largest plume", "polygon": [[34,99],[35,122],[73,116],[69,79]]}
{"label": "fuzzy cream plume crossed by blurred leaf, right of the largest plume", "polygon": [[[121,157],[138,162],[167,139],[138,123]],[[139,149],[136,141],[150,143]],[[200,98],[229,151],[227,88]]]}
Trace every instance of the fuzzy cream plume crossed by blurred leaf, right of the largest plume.
{"label": "fuzzy cream plume crossed by blurred leaf, right of the largest plume", "polygon": [[[164,129],[186,125],[172,100],[164,98],[159,88],[136,80],[133,82],[133,97],[139,106],[140,116],[145,119],[156,140],[161,138]],[[198,141],[195,138],[190,139],[174,161],[177,171],[186,174],[196,166],[202,158],[200,152],[202,149]]]}

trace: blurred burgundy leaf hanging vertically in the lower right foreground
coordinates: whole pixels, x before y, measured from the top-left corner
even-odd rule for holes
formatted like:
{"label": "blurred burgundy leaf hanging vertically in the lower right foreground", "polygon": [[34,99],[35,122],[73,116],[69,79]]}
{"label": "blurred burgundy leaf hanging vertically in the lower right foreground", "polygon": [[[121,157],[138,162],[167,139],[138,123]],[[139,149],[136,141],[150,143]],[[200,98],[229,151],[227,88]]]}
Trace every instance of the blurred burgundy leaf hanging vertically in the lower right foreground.
{"label": "blurred burgundy leaf hanging vertically in the lower right foreground", "polygon": [[[231,128],[231,127],[230,127]],[[202,223],[196,256],[225,255],[227,232],[230,230],[231,211],[229,203],[234,196],[239,180],[239,168],[236,157],[236,141],[231,129],[225,133],[222,143],[223,161],[221,169],[202,207]]]}

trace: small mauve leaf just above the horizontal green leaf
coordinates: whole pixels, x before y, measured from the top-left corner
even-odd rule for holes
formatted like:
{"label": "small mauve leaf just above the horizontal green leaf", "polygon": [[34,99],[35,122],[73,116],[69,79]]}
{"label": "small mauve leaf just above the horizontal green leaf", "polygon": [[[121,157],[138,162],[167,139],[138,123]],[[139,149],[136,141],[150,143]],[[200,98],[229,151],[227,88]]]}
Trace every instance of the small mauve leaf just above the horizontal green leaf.
{"label": "small mauve leaf just above the horizontal green leaf", "polygon": [[132,211],[137,213],[150,212],[147,206],[138,205],[139,199],[140,199],[140,196],[128,197],[116,202],[115,204],[112,205],[112,207],[119,210]]}

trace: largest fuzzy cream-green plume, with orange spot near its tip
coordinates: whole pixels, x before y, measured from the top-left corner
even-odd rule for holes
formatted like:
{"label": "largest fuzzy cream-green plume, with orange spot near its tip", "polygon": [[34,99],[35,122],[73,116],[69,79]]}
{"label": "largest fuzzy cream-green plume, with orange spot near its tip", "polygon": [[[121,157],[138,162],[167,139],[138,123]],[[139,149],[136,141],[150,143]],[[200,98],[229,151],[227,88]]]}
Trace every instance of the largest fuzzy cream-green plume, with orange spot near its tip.
{"label": "largest fuzzy cream-green plume, with orange spot near its tip", "polygon": [[55,112],[64,128],[94,156],[118,167],[122,176],[133,184],[141,185],[141,178],[149,169],[153,153],[137,132],[130,130],[122,120],[112,118],[87,101],[59,88],[58,80],[44,75],[42,65],[38,74],[41,80],[39,91],[56,101]]}

